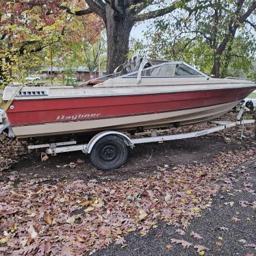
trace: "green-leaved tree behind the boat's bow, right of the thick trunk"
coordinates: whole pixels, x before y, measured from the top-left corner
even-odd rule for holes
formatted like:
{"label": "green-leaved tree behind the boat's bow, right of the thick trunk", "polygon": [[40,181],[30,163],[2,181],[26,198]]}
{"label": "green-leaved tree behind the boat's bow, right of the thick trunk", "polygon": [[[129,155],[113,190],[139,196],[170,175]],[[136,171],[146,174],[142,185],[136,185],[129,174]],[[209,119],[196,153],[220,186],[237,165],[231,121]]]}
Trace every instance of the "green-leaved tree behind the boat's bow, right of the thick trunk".
{"label": "green-leaved tree behind the boat's bow, right of the thick trunk", "polygon": [[[223,77],[231,59],[235,57],[237,61],[242,55],[243,59],[246,55],[249,58],[253,55],[255,10],[256,1],[250,0],[195,1],[186,6],[185,12],[177,14],[172,22],[162,19],[155,23],[153,45],[155,49],[162,49],[162,53],[172,51],[176,57],[188,51],[191,53],[191,48],[195,50],[196,45],[199,51],[200,47],[206,47],[207,55],[212,55],[210,73]],[[247,48],[244,48],[244,53],[240,51],[242,55],[235,56],[233,49],[238,47],[238,36]]]}

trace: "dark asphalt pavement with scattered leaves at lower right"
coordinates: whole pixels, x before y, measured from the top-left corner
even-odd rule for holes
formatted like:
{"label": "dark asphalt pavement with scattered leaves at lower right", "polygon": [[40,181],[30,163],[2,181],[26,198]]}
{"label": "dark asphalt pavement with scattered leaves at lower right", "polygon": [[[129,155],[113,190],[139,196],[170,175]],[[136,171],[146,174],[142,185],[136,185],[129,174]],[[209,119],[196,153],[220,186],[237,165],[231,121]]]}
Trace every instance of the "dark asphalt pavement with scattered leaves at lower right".
{"label": "dark asphalt pavement with scattered leaves at lower right", "polygon": [[[245,165],[248,164],[246,168]],[[256,160],[235,168],[225,176],[222,189],[214,197],[212,207],[203,211],[201,218],[192,220],[184,233],[165,222],[159,222],[148,235],[140,233],[127,235],[127,246],[121,248],[114,244],[105,250],[97,251],[96,256],[115,255],[199,255],[194,245],[200,244],[208,249],[207,255],[255,255],[256,250]],[[227,181],[228,186],[227,186]],[[246,202],[242,204],[242,202]],[[250,203],[249,203],[250,202]],[[254,202],[254,206],[253,206]],[[193,238],[191,233],[199,233],[201,239]],[[172,239],[185,240],[192,245],[183,248],[172,244]],[[203,254],[201,254],[203,255]]]}

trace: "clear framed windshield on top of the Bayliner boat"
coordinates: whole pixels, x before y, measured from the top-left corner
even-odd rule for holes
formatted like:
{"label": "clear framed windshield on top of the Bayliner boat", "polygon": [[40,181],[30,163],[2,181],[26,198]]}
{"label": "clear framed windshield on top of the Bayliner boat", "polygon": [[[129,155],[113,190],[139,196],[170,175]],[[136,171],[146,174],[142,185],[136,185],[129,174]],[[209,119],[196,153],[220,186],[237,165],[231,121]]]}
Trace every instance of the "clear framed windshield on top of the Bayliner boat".
{"label": "clear framed windshield on top of the Bayliner boat", "polygon": [[[137,77],[138,72],[131,73],[127,77]],[[157,66],[144,68],[141,77],[186,77],[186,76],[203,76],[190,66],[181,63],[164,63]]]}

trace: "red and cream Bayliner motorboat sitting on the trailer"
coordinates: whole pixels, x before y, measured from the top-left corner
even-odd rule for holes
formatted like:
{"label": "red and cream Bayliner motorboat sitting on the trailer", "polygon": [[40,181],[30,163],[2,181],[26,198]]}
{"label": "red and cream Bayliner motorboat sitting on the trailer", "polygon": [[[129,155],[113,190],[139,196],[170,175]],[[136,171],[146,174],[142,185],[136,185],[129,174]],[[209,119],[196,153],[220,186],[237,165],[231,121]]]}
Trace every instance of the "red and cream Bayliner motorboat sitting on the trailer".
{"label": "red and cream Bayliner motorboat sitting on the trailer", "polygon": [[17,138],[178,127],[218,118],[255,89],[185,62],[134,58],[79,86],[6,86],[2,119]]}

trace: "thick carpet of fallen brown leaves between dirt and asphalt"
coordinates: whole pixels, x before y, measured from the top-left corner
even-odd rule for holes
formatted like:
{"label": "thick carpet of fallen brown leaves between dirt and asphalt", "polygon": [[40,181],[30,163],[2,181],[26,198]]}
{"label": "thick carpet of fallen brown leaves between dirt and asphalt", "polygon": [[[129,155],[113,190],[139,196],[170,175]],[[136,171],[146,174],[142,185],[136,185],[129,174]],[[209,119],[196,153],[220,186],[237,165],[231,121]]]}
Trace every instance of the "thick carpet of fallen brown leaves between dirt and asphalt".
{"label": "thick carpet of fallen brown leaves between dirt and asphalt", "polygon": [[[123,235],[136,230],[146,235],[157,220],[186,229],[192,218],[211,206],[211,196],[220,189],[212,181],[255,157],[255,153],[255,148],[246,153],[220,153],[212,164],[177,166],[175,170],[127,181],[52,185],[30,180],[17,188],[13,181],[1,183],[1,252],[81,255],[113,242],[125,246]],[[166,201],[167,194],[170,196]],[[190,246],[188,242],[181,244]]]}

